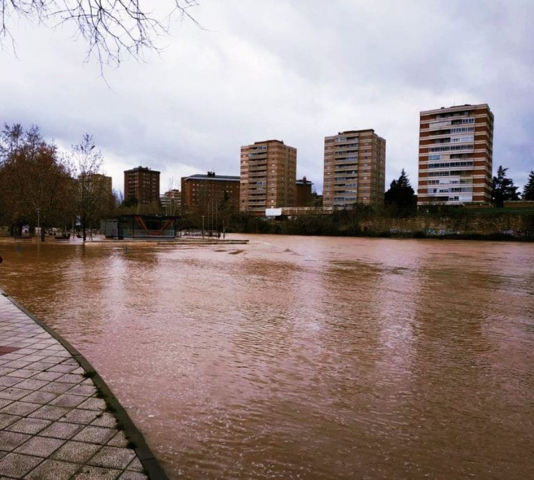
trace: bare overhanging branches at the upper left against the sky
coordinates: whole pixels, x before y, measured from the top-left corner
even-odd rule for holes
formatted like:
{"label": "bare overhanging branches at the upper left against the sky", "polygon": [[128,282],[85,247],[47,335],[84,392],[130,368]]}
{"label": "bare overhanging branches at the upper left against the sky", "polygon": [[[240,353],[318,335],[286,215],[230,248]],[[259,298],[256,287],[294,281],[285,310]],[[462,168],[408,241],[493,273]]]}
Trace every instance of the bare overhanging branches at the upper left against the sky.
{"label": "bare overhanging branches at the upper left against the sky", "polygon": [[200,26],[190,13],[197,0],[159,2],[155,13],[143,0],[0,0],[0,45],[15,38],[10,31],[15,17],[58,26],[74,24],[88,44],[88,57],[95,56],[101,67],[119,65],[124,54],[140,58],[145,49],[157,49],[156,38],[168,35],[170,22],[188,19]]}

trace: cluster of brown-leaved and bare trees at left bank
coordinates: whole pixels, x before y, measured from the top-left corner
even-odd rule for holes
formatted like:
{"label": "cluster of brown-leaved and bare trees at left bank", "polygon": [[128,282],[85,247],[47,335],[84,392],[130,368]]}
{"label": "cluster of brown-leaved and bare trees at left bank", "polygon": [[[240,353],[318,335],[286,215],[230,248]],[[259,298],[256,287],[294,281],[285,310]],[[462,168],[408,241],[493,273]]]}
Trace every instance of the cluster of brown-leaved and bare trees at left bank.
{"label": "cluster of brown-leaved and bare trees at left bank", "polygon": [[115,209],[115,197],[102,174],[102,152],[85,134],[67,154],[44,141],[40,129],[4,125],[0,132],[0,224],[21,235],[24,225],[51,227],[78,223],[86,230]]}

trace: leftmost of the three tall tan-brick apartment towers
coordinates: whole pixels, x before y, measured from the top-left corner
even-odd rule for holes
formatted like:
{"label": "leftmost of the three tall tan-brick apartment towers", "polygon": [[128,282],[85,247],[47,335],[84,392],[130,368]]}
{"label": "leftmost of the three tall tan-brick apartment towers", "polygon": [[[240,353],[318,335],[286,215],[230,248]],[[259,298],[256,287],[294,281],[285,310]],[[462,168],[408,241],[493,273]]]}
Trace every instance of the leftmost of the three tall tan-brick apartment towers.
{"label": "leftmost of the three tall tan-brick apartment towers", "polygon": [[264,215],[267,208],[295,206],[296,180],[296,148],[280,140],[241,147],[241,211]]}

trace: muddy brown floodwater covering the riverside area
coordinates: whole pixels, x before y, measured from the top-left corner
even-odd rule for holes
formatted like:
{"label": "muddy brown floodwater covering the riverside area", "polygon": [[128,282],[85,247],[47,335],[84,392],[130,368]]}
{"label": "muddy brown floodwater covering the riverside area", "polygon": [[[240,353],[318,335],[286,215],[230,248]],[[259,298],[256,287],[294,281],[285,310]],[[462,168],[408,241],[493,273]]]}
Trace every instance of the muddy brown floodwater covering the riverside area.
{"label": "muddy brown floodwater covering the riverside area", "polygon": [[174,479],[534,478],[534,245],[0,243]]}

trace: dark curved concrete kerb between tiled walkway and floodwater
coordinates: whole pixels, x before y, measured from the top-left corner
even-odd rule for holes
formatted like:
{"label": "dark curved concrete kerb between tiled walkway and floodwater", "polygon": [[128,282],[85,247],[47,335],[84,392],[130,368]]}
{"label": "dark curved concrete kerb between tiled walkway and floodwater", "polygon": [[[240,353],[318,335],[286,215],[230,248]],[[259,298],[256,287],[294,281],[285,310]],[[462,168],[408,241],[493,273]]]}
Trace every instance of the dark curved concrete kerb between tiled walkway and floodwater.
{"label": "dark curved concrete kerb between tiled walkway and floodwater", "polygon": [[86,371],[88,378],[91,378],[92,382],[95,383],[95,387],[102,394],[104,401],[106,401],[106,406],[108,409],[115,415],[117,422],[122,426],[122,431],[124,435],[135,447],[133,450],[136,452],[141,465],[145,469],[145,472],[149,479],[151,480],[169,480],[167,474],[163,471],[163,468],[159,464],[159,461],[154,456],[152,451],[149,449],[147,442],[143,434],[138,431],[136,425],[131,421],[128,413],[118,399],[115,397],[111,389],[106,385],[102,377],[98,374],[94,367],[88,362],[88,360],[72,346],[67,340],[65,340],[61,335],[58,335],[52,328],[43,323],[40,319],[35,317],[34,314],[26,310],[22,305],[20,305],[15,298],[6,294],[5,291],[0,289],[0,294],[6,297],[15,307],[17,307],[21,312],[30,317],[35,323],[38,324],[43,330],[49,333],[54,337],[60,344],[67,349],[67,351],[76,359],[79,365]]}

